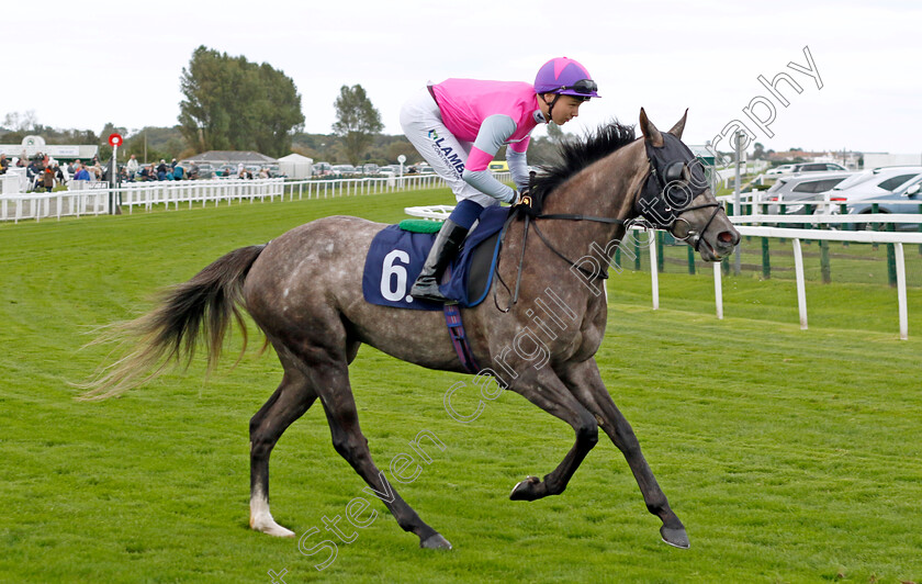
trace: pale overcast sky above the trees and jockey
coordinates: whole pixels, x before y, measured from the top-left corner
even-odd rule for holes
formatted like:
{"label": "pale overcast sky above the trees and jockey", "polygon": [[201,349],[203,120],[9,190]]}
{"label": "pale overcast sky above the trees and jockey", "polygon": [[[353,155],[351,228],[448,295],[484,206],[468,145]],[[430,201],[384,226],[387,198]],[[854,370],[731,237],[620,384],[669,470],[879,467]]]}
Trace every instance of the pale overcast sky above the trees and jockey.
{"label": "pale overcast sky above the trees and jockey", "polygon": [[[401,104],[427,80],[532,81],[541,64],[565,55],[592,72],[603,96],[565,131],[612,117],[636,124],[641,106],[668,128],[689,108],[688,144],[713,141],[740,120],[778,150],[922,153],[918,0],[53,0],[36,10],[4,7],[0,24],[0,122],[34,110],[55,127],[175,125],[180,74],[205,45],[291,77],[306,132],[329,133],[339,88],[361,83],[384,132],[398,134]],[[809,68],[805,47],[822,89],[788,66]],[[780,72],[802,89],[778,85],[787,106],[757,80]],[[774,114],[763,128],[743,112],[753,100],[754,116]]]}

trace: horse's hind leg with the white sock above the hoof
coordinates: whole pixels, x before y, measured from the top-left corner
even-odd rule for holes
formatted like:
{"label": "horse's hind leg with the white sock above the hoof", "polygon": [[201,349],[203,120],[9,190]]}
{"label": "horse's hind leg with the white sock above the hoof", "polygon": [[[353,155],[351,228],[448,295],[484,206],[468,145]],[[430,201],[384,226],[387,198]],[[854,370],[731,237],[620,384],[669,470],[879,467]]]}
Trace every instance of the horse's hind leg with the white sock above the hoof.
{"label": "horse's hind leg with the white sock above the hoof", "polygon": [[269,513],[269,456],[295,419],[317,398],[303,373],[285,367],[282,383],[250,419],[250,527],[270,536],[294,537],[294,531],[276,523]]}

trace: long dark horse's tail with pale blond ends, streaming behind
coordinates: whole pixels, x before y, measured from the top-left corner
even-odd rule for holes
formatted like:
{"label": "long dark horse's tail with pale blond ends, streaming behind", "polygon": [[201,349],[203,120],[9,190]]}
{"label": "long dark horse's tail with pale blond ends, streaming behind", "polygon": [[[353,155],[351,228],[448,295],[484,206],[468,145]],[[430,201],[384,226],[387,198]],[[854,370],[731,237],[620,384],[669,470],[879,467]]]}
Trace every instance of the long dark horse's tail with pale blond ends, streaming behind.
{"label": "long dark horse's tail with pale blond ends, streaming behind", "polygon": [[207,350],[211,371],[221,356],[232,317],[243,332],[243,356],[247,346],[247,329],[240,312],[244,281],[265,247],[249,246],[231,251],[188,282],[167,290],[150,313],[106,327],[108,330],[91,345],[120,341],[120,349],[126,349],[125,355],[100,369],[92,381],[79,384],[87,391],[78,400],[120,395],[158,377],[170,362],[188,367],[200,338]]}

